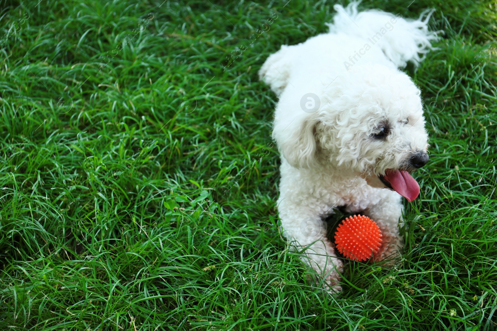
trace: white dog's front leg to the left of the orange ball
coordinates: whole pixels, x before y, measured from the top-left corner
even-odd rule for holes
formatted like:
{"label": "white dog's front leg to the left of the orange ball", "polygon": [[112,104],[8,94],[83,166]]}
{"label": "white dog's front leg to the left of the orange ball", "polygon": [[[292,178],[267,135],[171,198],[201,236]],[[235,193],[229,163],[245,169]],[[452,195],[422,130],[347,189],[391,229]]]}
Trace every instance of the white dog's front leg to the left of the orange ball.
{"label": "white dog's front leg to the left of the orange ball", "polygon": [[290,205],[281,197],[278,199],[278,211],[283,234],[302,252],[302,261],[325,277],[327,290],[341,291],[338,281],[343,265],[326,237],[326,223],[321,220],[319,211],[298,203]]}

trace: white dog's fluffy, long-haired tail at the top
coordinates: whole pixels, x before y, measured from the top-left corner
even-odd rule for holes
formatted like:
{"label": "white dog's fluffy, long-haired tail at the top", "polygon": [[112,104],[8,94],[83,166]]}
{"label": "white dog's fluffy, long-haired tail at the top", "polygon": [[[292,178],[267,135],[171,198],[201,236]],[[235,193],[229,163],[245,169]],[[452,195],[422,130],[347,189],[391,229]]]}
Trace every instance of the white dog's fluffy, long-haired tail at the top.
{"label": "white dog's fluffy, long-haired tail at the top", "polygon": [[357,12],[359,3],[350,2],[345,8],[335,4],[333,8],[337,13],[333,23],[328,24],[330,32],[362,38],[370,48],[378,45],[400,67],[405,67],[410,61],[417,66],[433,49],[431,41],[438,37],[436,32],[428,31],[428,20],[434,9],[423,11],[417,20],[407,20],[375,9]]}

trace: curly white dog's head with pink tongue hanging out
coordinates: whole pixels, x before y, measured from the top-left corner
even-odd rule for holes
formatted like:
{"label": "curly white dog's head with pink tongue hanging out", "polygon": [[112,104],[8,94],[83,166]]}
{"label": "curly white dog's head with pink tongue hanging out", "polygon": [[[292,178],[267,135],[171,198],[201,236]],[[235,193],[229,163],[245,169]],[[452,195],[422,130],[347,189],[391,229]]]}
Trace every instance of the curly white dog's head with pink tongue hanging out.
{"label": "curly white dog's head with pink tongue hanging out", "polygon": [[[316,93],[302,92],[309,106],[319,103],[318,109],[300,107],[307,99],[301,109],[277,109],[273,130],[292,166],[329,163],[410,201],[418,196],[410,172],[428,161],[428,135],[420,91],[408,75],[386,66],[354,66]],[[295,104],[295,97],[286,97],[278,107],[289,107],[292,98]]]}

